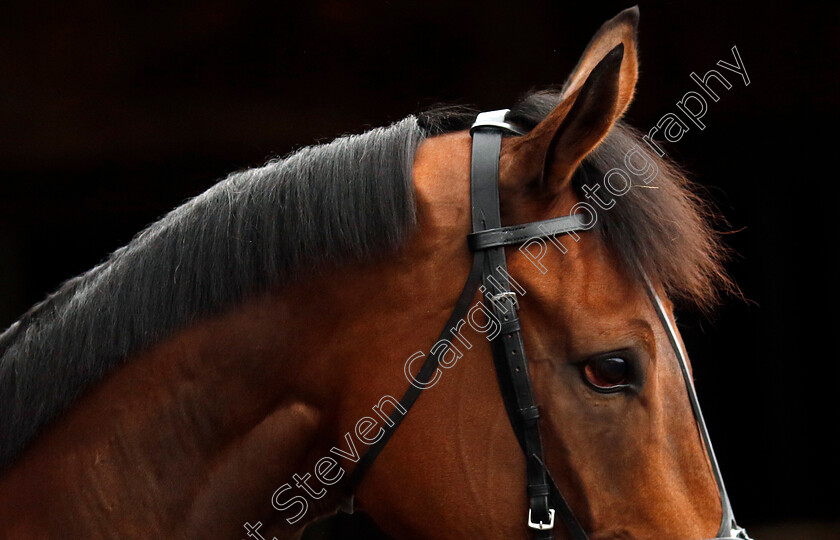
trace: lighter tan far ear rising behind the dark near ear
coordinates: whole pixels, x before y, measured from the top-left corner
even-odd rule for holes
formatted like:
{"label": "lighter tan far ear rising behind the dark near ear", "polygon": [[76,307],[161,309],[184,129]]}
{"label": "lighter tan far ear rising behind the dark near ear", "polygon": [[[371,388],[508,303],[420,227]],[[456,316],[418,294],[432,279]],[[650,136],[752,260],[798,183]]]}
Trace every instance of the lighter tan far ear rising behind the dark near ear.
{"label": "lighter tan far ear rising behind the dark near ear", "polygon": [[639,58],[636,53],[636,32],[639,27],[639,7],[627,8],[612,19],[601,25],[595,32],[589,44],[583,51],[577,66],[560,91],[562,99],[566,99],[583,86],[589,74],[609,51],[619,44],[624,45],[624,60],[621,64],[621,88],[618,115],[624,114],[633,100],[633,91],[639,73]]}

